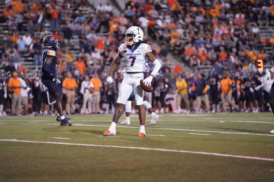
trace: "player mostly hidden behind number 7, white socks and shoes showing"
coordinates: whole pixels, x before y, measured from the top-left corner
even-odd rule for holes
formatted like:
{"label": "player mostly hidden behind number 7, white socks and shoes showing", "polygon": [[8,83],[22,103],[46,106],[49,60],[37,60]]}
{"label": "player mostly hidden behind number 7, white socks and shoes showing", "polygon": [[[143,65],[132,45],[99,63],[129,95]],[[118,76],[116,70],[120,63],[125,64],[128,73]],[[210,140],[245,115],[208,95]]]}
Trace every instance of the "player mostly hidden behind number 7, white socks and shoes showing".
{"label": "player mostly hidden behind number 7, white socks and shoes showing", "polygon": [[[147,69],[148,69],[148,62],[146,62],[146,67],[144,71],[144,78],[147,76]],[[124,69],[121,74],[126,73]],[[126,111],[126,119],[123,122],[120,122],[120,124],[127,124],[130,125],[130,112],[131,112],[131,103],[134,99],[134,92],[132,91],[130,94],[130,97],[126,101],[125,111]],[[148,110],[148,112],[151,114],[151,122],[150,124],[156,124],[157,120],[159,119],[159,116],[153,111],[151,104],[146,101],[146,92],[144,92],[144,98],[143,98],[144,106]]]}

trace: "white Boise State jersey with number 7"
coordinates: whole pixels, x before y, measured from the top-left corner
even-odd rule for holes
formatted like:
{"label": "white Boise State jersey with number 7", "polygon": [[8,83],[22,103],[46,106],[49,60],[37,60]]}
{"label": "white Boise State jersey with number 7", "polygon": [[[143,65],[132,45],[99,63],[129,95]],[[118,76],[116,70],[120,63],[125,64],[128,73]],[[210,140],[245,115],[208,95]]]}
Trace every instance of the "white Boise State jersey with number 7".
{"label": "white Boise State jersey with number 7", "polygon": [[152,48],[146,43],[141,43],[134,48],[124,43],[120,45],[118,52],[125,58],[126,72],[144,72],[147,62],[146,53],[152,52]]}

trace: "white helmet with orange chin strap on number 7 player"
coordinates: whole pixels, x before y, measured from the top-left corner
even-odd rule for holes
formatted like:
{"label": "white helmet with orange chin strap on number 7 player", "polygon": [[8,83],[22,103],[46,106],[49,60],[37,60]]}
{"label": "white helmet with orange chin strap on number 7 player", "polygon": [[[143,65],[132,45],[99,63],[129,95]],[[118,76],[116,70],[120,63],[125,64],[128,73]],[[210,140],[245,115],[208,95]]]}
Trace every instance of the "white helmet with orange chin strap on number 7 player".
{"label": "white helmet with orange chin strap on number 7 player", "polygon": [[[133,34],[133,39],[131,37],[128,37],[129,34]],[[134,43],[142,41],[144,38],[144,33],[142,29],[136,26],[129,27],[125,35],[126,35],[125,42],[127,45],[132,45]]]}

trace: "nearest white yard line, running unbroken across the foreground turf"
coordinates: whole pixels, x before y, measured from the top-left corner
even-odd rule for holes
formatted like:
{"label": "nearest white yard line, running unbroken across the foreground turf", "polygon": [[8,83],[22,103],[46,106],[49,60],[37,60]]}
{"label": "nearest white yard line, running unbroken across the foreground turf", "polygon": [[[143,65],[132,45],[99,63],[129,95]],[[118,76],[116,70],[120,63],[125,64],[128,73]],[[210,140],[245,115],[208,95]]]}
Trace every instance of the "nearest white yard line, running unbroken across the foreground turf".
{"label": "nearest white yard line, running unbroken across the foreground turf", "polygon": [[17,139],[0,139],[0,141],[17,141],[17,142],[27,142],[27,143],[47,143],[47,144],[58,144],[58,145],[78,145],[78,146],[90,146],[90,147],[112,147],[112,148],[121,148],[121,149],[140,149],[140,150],[152,150],[152,151],[166,151],[166,152],[214,155],[214,156],[234,157],[234,158],[242,158],[242,159],[255,159],[255,160],[262,160],[262,161],[274,161],[274,159],[272,159],[272,158],[263,158],[263,157],[251,157],[251,156],[243,156],[243,155],[230,155],[230,154],[222,154],[222,153],[187,151],[187,150],[172,150],[172,149],[159,149],[159,148],[147,148],[147,147],[126,147],[126,146],[116,146],[116,145],[94,145],[94,144],[85,144],[85,143],[64,143],[64,142],[51,142],[51,141],[28,141],[28,140],[17,140]]}

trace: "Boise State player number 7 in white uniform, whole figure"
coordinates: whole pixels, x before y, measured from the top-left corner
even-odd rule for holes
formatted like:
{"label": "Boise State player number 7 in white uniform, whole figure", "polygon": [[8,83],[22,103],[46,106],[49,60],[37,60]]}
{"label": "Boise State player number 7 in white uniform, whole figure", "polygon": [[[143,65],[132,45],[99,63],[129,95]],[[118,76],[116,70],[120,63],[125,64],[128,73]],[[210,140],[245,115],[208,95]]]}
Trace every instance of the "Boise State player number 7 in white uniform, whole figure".
{"label": "Boise State player number 7 in white uniform, whole figure", "polygon": [[133,90],[135,96],[135,102],[138,107],[138,114],[140,120],[139,136],[144,137],[145,132],[145,120],[146,112],[143,104],[143,90],[140,86],[140,80],[144,79],[144,69],[146,66],[146,58],[154,64],[154,69],[151,74],[143,80],[145,85],[151,85],[151,81],[156,76],[161,68],[159,60],[152,53],[152,48],[149,44],[143,42],[144,33],[139,27],[129,27],[125,33],[125,42],[120,45],[118,54],[114,58],[108,73],[106,80],[107,84],[113,82],[113,72],[118,62],[124,57],[126,61],[126,76],[120,85],[119,95],[117,100],[117,107],[112,119],[112,123],[104,136],[116,135],[116,124],[123,114],[126,101],[130,97]]}

